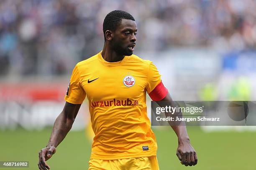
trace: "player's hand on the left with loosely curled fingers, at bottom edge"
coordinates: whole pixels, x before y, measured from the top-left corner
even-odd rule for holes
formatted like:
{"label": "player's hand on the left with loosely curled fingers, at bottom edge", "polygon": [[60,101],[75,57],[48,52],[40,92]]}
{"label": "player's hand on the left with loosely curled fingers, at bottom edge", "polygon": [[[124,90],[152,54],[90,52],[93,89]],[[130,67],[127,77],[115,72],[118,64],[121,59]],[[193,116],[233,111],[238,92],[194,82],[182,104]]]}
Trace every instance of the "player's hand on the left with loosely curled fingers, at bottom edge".
{"label": "player's hand on the left with loosely curled fingers, at bottom edge", "polygon": [[39,170],[50,169],[49,165],[47,165],[46,163],[46,160],[49,160],[54,153],[56,153],[56,148],[54,146],[41,149],[41,151],[39,152],[39,162],[38,162]]}

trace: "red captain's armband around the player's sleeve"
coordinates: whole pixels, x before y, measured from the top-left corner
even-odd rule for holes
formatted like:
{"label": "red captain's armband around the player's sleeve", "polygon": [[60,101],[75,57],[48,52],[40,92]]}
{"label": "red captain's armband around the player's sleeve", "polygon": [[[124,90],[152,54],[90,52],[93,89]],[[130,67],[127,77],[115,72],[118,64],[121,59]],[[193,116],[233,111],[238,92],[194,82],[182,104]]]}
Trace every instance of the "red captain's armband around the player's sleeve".
{"label": "red captain's armband around the player's sleeve", "polygon": [[161,81],[148,95],[151,97],[152,100],[160,101],[167,95],[167,93],[168,90],[164,87],[164,84]]}

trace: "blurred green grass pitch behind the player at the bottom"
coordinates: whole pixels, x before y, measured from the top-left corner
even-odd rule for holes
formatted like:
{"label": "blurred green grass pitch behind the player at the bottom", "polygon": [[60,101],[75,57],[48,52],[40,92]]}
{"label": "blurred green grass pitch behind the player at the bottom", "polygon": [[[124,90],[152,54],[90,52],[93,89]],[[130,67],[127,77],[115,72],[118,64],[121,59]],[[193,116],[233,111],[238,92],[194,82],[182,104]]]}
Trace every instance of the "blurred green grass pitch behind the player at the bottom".
{"label": "blurred green grass pitch behind the player at the bottom", "polygon": [[[256,170],[256,133],[204,133],[199,127],[187,127],[197,151],[198,165],[185,167],[176,157],[177,138],[169,127],[154,128],[158,143],[160,170]],[[51,129],[43,131],[0,131],[0,161],[29,161],[29,168],[38,169],[38,152],[49,140]],[[51,170],[87,170],[90,140],[84,131],[70,132],[47,161]],[[0,168],[6,169],[6,168]],[[11,170],[12,168],[7,168]]]}

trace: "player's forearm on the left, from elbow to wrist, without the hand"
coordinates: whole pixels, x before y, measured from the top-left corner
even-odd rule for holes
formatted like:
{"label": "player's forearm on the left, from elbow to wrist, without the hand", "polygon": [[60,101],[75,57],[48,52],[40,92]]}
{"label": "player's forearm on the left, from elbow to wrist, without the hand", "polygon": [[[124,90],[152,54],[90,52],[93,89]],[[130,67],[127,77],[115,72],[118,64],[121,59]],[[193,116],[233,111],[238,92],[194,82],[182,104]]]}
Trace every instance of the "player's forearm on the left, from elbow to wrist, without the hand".
{"label": "player's forearm on the left, from elbow to wrist, without the hand", "polygon": [[64,112],[61,112],[54,122],[51,137],[46,147],[57,147],[72,128],[73,122],[74,120],[70,120]]}

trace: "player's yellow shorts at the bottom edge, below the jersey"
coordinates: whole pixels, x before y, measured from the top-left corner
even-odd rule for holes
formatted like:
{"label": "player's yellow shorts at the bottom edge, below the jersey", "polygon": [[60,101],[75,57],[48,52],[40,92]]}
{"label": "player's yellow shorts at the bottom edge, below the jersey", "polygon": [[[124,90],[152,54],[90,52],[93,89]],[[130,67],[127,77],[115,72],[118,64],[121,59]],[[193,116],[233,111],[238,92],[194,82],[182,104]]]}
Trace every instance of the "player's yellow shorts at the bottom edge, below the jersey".
{"label": "player's yellow shorts at the bottom edge, below the jersey", "polygon": [[156,156],[118,160],[90,159],[88,170],[159,170]]}

